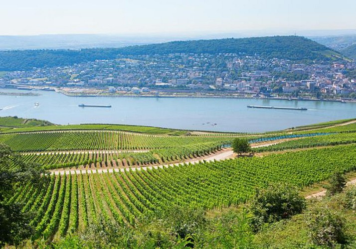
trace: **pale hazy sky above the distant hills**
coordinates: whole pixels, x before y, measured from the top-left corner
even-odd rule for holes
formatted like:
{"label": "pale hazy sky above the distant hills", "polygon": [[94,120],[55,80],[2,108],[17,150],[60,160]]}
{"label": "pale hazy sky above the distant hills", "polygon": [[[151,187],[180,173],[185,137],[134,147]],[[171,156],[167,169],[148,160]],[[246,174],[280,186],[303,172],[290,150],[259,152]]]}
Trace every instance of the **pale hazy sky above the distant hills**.
{"label": "pale hazy sky above the distant hills", "polygon": [[1,0],[0,35],[355,29],[356,0]]}

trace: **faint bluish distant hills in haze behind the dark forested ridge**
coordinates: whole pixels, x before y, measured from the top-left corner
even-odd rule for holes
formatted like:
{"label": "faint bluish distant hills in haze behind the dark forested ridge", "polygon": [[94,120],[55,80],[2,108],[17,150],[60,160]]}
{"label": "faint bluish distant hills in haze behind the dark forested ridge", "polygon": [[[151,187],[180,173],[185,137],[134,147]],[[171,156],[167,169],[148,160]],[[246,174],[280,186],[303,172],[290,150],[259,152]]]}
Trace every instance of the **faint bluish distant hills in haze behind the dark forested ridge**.
{"label": "faint bluish distant hills in haze behind the dark forested ridge", "polygon": [[337,46],[340,42],[343,43],[344,37],[355,37],[356,30],[240,30],[210,33],[0,35],[0,50],[107,48],[177,40],[247,38],[294,34],[308,37],[323,45],[337,49],[337,47],[333,46]]}

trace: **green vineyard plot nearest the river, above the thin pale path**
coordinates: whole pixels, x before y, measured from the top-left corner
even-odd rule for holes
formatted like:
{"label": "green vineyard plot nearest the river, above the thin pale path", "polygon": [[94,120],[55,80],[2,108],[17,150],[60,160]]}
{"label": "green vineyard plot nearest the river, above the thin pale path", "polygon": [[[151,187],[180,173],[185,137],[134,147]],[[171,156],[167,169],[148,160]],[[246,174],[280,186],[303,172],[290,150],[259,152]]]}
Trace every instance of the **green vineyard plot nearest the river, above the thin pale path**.
{"label": "green vineyard plot nearest the river, above the thin pale path", "polygon": [[0,143],[15,151],[146,150],[213,142],[229,143],[231,136],[158,136],[119,131],[47,131],[0,134]]}

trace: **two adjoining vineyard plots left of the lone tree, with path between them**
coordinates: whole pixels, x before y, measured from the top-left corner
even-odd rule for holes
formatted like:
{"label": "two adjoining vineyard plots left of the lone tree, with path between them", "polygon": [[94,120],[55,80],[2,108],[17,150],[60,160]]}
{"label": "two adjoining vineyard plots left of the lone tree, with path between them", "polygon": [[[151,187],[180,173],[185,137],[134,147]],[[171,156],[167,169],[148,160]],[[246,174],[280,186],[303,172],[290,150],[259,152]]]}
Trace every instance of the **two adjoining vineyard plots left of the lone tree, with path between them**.
{"label": "two adjoining vineyard plots left of the lone tree, with path between them", "polygon": [[1,134],[0,143],[45,169],[152,165],[220,150],[233,136],[168,136],[122,131],[64,130]]}

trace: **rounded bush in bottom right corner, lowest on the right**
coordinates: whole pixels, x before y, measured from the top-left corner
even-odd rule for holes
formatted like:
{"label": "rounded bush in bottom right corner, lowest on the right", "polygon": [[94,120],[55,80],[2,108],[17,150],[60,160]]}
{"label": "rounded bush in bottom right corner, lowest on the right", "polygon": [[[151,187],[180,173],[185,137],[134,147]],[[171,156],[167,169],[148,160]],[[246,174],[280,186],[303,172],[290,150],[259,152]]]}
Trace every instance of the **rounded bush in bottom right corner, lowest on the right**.
{"label": "rounded bush in bottom right corner, lowest on the right", "polygon": [[335,209],[322,205],[313,206],[305,214],[309,237],[315,245],[334,248],[345,242],[345,220]]}

